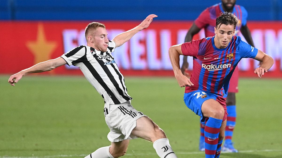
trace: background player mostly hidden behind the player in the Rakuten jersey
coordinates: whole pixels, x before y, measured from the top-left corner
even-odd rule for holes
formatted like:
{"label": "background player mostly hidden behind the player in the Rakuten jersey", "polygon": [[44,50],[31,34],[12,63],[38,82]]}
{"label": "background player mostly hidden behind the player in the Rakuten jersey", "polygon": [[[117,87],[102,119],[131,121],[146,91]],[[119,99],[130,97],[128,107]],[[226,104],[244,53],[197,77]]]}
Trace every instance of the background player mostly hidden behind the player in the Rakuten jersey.
{"label": "background player mostly hidden behind the player in the Rakuten jersey", "polygon": [[[222,0],[222,3],[215,4],[209,8],[206,8],[199,17],[193,22],[193,25],[189,29],[186,34],[184,42],[190,42],[193,36],[199,31],[204,28],[205,36],[211,37],[214,36],[214,27],[215,27],[215,19],[220,15],[221,12],[231,12],[238,17],[238,24],[236,25],[235,35],[241,31],[242,35],[250,44],[254,47],[254,42],[252,40],[250,30],[247,26],[247,16],[248,13],[243,6],[235,5],[236,0]],[[187,56],[183,58],[183,64],[181,67],[181,71],[184,75],[188,75],[187,73],[188,62]],[[188,75],[189,76],[189,75]],[[226,105],[227,105],[227,123],[225,129],[225,142],[222,148],[222,151],[225,152],[238,152],[233,147],[232,143],[232,136],[233,130],[236,123],[236,100],[235,100],[235,93],[238,92],[238,79],[239,79],[239,70],[236,68],[233,72],[233,75],[230,79],[230,85],[228,89],[228,96],[226,98]],[[200,142],[199,142],[199,150],[205,150],[205,138],[204,138],[204,128],[205,123],[200,123]]]}

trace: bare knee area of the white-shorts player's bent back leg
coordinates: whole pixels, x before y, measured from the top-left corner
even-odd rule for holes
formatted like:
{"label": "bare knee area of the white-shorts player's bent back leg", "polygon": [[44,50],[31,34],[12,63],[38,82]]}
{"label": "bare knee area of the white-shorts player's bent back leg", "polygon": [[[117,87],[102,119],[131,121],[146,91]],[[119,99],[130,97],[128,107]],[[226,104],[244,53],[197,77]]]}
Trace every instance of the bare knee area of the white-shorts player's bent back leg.
{"label": "bare knee area of the white-shorts player's bent back leg", "polygon": [[124,155],[126,153],[128,144],[128,139],[119,142],[112,142],[110,147],[111,155],[113,155],[114,157]]}

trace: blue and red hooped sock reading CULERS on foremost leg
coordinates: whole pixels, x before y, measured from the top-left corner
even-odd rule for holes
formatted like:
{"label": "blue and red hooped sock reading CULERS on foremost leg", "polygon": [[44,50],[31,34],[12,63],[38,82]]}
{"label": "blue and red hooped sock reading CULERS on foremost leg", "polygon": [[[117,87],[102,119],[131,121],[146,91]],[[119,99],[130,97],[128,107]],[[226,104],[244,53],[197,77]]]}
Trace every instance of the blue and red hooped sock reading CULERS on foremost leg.
{"label": "blue and red hooped sock reading CULERS on foremost leg", "polygon": [[205,153],[206,158],[214,158],[216,154],[218,135],[222,119],[209,118],[205,127]]}

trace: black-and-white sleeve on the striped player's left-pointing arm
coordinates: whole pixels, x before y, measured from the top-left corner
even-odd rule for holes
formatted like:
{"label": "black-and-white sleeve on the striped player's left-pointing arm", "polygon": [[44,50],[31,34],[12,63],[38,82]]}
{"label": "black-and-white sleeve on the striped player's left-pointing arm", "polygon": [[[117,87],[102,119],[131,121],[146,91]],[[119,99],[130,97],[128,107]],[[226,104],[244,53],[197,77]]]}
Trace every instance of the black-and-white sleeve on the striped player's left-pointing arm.
{"label": "black-and-white sleeve on the striped player's left-pointing arm", "polygon": [[79,62],[85,62],[87,60],[86,47],[78,46],[71,51],[61,55],[61,57],[67,62],[69,66]]}

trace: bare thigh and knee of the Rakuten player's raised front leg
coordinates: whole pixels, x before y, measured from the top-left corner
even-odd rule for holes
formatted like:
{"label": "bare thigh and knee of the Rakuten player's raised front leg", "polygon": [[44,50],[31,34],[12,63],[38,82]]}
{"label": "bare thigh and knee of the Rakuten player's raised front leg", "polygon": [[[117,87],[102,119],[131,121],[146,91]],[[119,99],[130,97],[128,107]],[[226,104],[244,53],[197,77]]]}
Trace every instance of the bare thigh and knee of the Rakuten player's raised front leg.
{"label": "bare thigh and knee of the Rakuten player's raised front leg", "polygon": [[208,99],[202,103],[202,114],[204,117],[222,119],[224,116],[224,108],[218,101]]}

